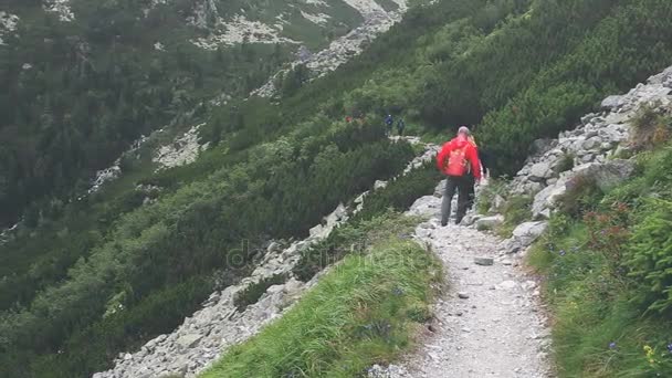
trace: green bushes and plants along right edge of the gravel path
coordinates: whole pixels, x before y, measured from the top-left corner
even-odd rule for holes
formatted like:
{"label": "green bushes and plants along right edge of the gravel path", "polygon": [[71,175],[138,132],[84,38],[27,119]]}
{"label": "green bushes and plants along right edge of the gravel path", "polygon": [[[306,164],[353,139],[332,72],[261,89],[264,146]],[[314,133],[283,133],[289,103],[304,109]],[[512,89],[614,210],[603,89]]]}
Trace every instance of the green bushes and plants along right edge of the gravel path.
{"label": "green bushes and plants along right edge of the gravel path", "polygon": [[546,277],[560,377],[672,375],[672,148],[607,193],[589,180],[529,256]]}

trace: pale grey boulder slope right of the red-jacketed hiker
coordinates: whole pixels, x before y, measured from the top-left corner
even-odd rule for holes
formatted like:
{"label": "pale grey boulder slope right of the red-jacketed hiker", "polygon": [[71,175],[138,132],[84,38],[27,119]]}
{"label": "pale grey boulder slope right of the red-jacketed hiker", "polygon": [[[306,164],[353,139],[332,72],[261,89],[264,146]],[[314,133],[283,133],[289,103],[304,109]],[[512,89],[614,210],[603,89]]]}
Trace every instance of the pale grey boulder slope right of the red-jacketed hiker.
{"label": "pale grey boulder slope right of the red-jacketed hiker", "polygon": [[[672,67],[651,76],[624,95],[609,96],[600,114],[589,114],[574,130],[560,133],[556,140],[539,141],[544,148],[528,158],[511,183],[511,191],[533,195],[535,219],[548,218],[578,176],[595,179],[603,190],[628,178],[632,161],[613,159],[628,148],[630,122],[642,104],[668,107],[672,103]],[[569,164],[569,166],[567,166]]]}

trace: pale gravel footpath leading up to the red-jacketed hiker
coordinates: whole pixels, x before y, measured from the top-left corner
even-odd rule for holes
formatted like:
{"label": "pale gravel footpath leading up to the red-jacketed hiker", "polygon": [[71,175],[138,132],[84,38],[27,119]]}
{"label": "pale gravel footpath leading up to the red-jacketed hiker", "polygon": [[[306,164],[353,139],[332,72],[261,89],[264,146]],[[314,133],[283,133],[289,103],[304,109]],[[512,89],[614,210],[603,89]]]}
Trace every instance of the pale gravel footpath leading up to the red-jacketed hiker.
{"label": "pale gravel footpath leading up to the red-jacketed hiker", "polygon": [[[519,256],[500,255],[501,240],[474,229],[439,224],[440,199],[416,237],[445,265],[449,288],[434,306],[435,322],[423,345],[401,366],[374,367],[371,377],[553,377],[547,360],[549,329],[538,306],[537,283]],[[493,259],[479,265],[475,258]]]}

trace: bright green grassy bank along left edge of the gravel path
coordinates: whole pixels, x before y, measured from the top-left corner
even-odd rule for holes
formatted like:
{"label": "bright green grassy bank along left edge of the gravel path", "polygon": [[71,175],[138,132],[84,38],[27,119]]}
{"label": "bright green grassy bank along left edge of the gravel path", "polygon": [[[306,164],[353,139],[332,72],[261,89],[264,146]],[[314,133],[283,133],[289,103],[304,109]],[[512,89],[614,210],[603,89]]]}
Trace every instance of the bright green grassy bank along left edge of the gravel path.
{"label": "bright green grassy bank along left edge of the gravel path", "polygon": [[[399,216],[371,222],[370,231],[397,222],[410,229]],[[367,250],[353,251],[281,319],[232,347],[202,377],[356,377],[409,349],[430,317],[441,265],[398,235]]]}

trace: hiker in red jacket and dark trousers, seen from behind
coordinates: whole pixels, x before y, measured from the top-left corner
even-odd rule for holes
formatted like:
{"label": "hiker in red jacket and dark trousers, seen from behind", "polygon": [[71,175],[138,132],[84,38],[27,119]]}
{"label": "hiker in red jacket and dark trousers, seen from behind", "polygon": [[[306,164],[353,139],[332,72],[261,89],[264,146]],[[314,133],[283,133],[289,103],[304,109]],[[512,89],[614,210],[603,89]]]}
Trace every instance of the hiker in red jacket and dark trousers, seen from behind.
{"label": "hiker in red jacket and dark trousers, seen from behind", "polygon": [[458,189],[458,214],[455,224],[459,224],[466,213],[469,204],[469,176],[473,176],[477,182],[481,179],[481,161],[479,151],[474,144],[469,141],[470,132],[465,126],[460,127],[458,136],[443,145],[437,156],[439,170],[448,176],[443,204],[441,206],[441,225],[447,225],[450,218],[450,208]]}

